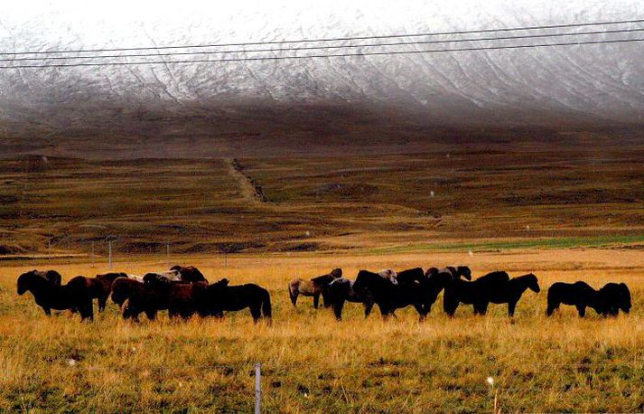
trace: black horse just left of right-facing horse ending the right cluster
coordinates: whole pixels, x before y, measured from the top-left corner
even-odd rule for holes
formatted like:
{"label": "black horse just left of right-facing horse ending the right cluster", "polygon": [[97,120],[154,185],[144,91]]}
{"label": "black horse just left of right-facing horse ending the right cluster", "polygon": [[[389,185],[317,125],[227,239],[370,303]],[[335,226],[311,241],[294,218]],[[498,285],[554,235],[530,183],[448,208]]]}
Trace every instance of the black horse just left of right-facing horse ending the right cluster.
{"label": "black horse just left of right-facing horse ending the right cluster", "polygon": [[445,287],[443,310],[447,315],[453,316],[456,308],[463,303],[474,307],[474,315],[485,315],[491,292],[498,290],[508,280],[508,273],[501,271],[488,273],[472,282],[453,278]]}

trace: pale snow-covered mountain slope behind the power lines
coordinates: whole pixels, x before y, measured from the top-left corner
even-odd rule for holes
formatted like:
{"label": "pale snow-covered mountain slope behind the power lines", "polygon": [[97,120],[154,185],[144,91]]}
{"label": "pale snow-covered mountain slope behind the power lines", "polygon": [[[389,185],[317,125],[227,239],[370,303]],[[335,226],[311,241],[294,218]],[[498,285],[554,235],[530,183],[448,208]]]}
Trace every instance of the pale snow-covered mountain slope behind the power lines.
{"label": "pale snow-covered mountain slope behind the power lines", "polygon": [[[644,3],[630,0],[4,2],[0,51],[263,42],[642,17]],[[616,38],[638,37],[644,38],[644,32]],[[123,112],[190,114],[193,108],[226,110],[257,101],[397,108],[423,122],[448,126],[640,124],[643,69],[644,42],[0,70],[0,125],[12,133],[34,124],[64,130],[79,122],[92,125],[93,117],[108,119]]]}

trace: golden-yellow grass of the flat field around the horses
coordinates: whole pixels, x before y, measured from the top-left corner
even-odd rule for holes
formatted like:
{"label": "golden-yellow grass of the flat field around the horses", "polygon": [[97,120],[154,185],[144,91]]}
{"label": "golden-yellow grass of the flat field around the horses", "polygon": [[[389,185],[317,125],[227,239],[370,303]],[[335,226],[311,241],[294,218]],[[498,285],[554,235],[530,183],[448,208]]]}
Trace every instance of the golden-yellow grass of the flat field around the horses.
{"label": "golden-yellow grass of the flat field around the horses", "polygon": [[[249,412],[253,365],[263,366],[266,412],[490,412],[644,410],[644,258],[636,249],[548,249],[506,254],[457,252],[395,256],[292,255],[174,258],[202,269],[210,281],[255,281],[272,294],[274,324],[253,325],[246,311],[221,321],[192,319],[125,323],[110,304],[94,324],[61,314],[46,319],[31,296],[15,293],[29,263],[0,268],[0,410]],[[409,268],[471,264],[474,274],[505,268],[534,271],[542,292],[527,292],[513,321],[505,308],[487,317],[461,307],[449,320],[442,302],[419,324],[412,309],[398,319],[368,320],[349,304],[345,321],[294,309],[286,283],[341,266]],[[166,263],[133,261],[117,269],[142,273]],[[105,270],[91,264],[52,265],[65,278]],[[593,287],[625,281],[628,316],[579,320],[573,309],[544,315],[546,290],[559,280]],[[493,386],[486,381],[494,379]]]}

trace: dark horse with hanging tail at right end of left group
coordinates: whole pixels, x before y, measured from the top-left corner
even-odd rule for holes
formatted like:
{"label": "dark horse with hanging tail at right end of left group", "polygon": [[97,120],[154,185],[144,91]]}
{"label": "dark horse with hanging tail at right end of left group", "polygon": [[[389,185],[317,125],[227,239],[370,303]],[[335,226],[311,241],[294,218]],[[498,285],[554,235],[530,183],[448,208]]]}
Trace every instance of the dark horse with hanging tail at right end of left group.
{"label": "dark horse with hanging tail at right end of left group", "polygon": [[264,287],[253,283],[229,286],[229,279],[226,278],[205,287],[197,307],[201,316],[221,315],[223,311],[248,308],[256,324],[262,315],[269,324],[272,318],[271,296]]}

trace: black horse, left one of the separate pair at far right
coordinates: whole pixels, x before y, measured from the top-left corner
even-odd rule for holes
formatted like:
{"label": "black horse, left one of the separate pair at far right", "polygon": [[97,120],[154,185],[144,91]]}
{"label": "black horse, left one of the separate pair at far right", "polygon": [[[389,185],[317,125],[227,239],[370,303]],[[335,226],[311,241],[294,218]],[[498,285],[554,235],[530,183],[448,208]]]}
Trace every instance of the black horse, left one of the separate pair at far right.
{"label": "black horse, left one of the separate pair at far right", "polygon": [[592,307],[595,312],[602,314],[599,292],[581,280],[574,283],[553,284],[548,288],[547,303],[546,316],[552,315],[561,304],[575,306],[579,317],[586,315],[586,307]]}

